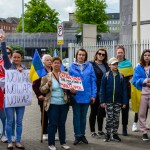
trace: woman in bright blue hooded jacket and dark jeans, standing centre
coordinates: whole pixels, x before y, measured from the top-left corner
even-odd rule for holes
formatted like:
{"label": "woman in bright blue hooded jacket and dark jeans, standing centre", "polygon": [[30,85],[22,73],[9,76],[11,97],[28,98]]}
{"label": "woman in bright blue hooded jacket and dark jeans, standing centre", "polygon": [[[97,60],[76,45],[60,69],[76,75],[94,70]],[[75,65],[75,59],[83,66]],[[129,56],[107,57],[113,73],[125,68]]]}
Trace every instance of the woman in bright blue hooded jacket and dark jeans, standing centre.
{"label": "woman in bright blue hooded jacket and dark jeans, standing centre", "polygon": [[89,104],[93,104],[96,98],[96,76],[91,63],[87,61],[87,52],[79,49],[76,53],[76,62],[69,67],[69,74],[80,77],[84,91],[76,91],[74,96],[75,104],[73,108],[73,126],[75,133],[74,145],[79,142],[88,144],[85,137],[86,116]]}

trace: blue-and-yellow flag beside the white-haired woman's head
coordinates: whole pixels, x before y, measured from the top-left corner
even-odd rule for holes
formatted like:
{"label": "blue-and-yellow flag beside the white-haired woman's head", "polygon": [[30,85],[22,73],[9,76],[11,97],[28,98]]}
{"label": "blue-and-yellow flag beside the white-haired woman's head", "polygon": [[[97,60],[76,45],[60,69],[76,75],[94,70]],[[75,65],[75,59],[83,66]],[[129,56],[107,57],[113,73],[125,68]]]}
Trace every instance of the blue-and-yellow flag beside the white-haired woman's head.
{"label": "blue-and-yellow flag beside the white-haired woman's head", "polygon": [[30,68],[30,73],[29,73],[29,78],[33,82],[47,74],[41,58],[39,56],[38,51],[36,50],[33,56],[31,68]]}

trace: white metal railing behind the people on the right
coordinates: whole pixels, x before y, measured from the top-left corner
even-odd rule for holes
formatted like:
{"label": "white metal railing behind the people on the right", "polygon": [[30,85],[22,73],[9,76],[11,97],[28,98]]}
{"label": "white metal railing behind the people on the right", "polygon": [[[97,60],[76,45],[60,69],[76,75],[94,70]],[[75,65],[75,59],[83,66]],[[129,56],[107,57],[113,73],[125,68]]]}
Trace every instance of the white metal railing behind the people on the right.
{"label": "white metal railing behind the people on the right", "polygon": [[[100,42],[96,45],[92,43],[84,43],[83,44],[75,44],[75,43],[69,43],[68,44],[68,52],[69,52],[69,64],[71,64],[75,58],[75,53],[79,48],[84,48],[88,52],[88,60],[93,60],[94,55],[96,51],[99,48],[105,48],[108,53],[108,59],[111,57],[116,56],[116,46],[117,45],[123,45],[125,47],[125,56],[127,59],[129,59],[133,66],[136,66],[136,64],[139,62],[138,58],[138,52],[137,52],[137,42],[129,43],[129,42],[124,42],[124,43],[119,43],[117,41],[104,41]],[[145,40],[142,41],[140,44],[141,47],[141,53],[143,52],[144,49],[150,49],[150,41]]]}

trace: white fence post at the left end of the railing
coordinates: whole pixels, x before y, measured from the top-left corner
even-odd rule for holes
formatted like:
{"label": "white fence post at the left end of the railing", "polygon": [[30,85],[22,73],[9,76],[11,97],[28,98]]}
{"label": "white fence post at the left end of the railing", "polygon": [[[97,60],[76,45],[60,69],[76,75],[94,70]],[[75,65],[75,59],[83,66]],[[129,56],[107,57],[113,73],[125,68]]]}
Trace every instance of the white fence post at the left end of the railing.
{"label": "white fence post at the left end of the railing", "polygon": [[68,44],[68,58],[69,58],[69,66],[70,66],[74,60],[74,43]]}

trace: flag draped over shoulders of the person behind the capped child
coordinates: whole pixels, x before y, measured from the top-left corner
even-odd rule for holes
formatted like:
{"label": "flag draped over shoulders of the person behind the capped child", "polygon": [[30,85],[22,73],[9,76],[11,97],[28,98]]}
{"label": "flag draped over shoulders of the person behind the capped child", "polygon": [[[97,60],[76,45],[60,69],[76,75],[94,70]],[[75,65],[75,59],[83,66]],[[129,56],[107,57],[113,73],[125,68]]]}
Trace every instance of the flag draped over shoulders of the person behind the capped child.
{"label": "flag draped over shoulders of the person behind the capped child", "polygon": [[118,70],[120,73],[124,75],[124,77],[132,76],[133,75],[133,67],[131,62],[128,59],[119,62]]}

